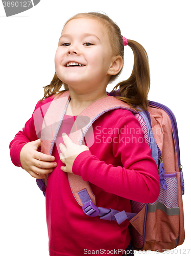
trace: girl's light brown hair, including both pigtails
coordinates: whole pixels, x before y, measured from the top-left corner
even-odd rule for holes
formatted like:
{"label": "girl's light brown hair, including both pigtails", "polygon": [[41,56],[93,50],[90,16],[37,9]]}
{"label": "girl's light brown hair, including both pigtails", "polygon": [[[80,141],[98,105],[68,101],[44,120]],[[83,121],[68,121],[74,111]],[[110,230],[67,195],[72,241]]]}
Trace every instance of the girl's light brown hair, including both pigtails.
{"label": "girl's light brown hair, including both pigtails", "polygon": [[[99,12],[88,12],[88,13],[79,13],[75,16],[69,18],[65,25],[75,18],[93,18],[97,19],[108,32],[110,38],[111,47],[114,56],[120,55],[124,60],[124,44],[123,38],[121,35],[120,28],[110,19],[107,15]],[[64,26],[65,26],[64,25]],[[134,54],[134,65],[130,77],[127,80],[124,80],[118,83],[112,90],[112,93],[117,95],[117,98],[128,103],[133,108],[141,108],[142,110],[147,110],[148,106],[148,93],[150,89],[150,71],[149,71],[149,61],[146,50],[138,44],[138,42],[128,39],[128,46],[133,50]],[[114,81],[120,74],[122,70],[111,76],[109,82]],[[60,88],[64,84],[63,91],[60,91]],[[118,92],[116,92],[119,87]],[[52,96],[57,93],[62,93],[68,90],[66,83],[63,83],[57,76],[56,72],[49,86],[44,87],[44,98]]]}

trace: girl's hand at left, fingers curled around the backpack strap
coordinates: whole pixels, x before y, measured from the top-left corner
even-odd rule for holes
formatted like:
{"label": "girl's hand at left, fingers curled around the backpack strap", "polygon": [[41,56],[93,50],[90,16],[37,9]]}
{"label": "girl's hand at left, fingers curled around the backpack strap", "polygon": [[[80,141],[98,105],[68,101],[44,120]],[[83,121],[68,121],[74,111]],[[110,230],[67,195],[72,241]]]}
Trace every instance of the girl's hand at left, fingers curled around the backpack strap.
{"label": "girl's hand at left, fingers curled around the backpack strap", "polygon": [[45,179],[46,174],[52,173],[57,166],[55,157],[38,152],[40,139],[25,144],[20,151],[20,163],[32,177]]}

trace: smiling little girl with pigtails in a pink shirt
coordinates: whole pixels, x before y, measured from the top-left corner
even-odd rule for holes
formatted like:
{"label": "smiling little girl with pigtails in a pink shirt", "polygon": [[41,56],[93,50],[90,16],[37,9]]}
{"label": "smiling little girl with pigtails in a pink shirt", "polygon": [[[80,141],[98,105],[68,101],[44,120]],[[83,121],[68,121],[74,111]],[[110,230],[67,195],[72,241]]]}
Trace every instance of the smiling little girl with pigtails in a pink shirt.
{"label": "smiling little girl with pigtails in a pink shirt", "polygon": [[[70,18],[62,30],[55,55],[56,73],[35,108],[43,109],[55,95],[69,90],[70,101],[52,156],[39,152],[34,113],[10,143],[14,165],[36,179],[49,174],[45,200],[51,256],[122,255],[132,247],[129,221],[118,224],[86,216],[71,193],[67,173],[89,182],[100,207],[131,212],[130,200],[152,203],[158,198],[157,166],[130,111],[111,110],[94,121],[89,135],[93,136],[92,144],[86,140],[80,146],[68,137],[83,110],[110,97],[106,87],[122,71],[124,45],[133,50],[134,67],[130,78],[114,88],[120,86],[117,98],[135,110],[147,110],[150,76],[145,49],[122,37],[108,16],[81,13]],[[62,84],[65,90],[59,91]]]}

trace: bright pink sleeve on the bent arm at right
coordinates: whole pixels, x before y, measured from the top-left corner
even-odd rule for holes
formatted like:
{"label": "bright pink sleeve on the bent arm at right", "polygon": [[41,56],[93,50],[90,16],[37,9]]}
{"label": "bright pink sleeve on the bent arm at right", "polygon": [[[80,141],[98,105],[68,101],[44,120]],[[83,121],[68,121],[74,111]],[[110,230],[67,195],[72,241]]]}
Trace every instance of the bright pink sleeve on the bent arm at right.
{"label": "bright pink sleeve on the bent arm at right", "polygon": [[135,132],[133,137],[127,133],[120,133],[120,136],[117,134],[117,131],[123,131],[127,125],[129,129],[141,131],[140,124],[133,115],[123,116],[115,125],[113,156],[121,161],[122,166],[108,164],[109,154],[105,153],[106,163],[90,151],[85,151],[77,156],[73,173],[108,193],[142,203],[152,203],[158,198],[160,191],[157,165],[142,131]]}

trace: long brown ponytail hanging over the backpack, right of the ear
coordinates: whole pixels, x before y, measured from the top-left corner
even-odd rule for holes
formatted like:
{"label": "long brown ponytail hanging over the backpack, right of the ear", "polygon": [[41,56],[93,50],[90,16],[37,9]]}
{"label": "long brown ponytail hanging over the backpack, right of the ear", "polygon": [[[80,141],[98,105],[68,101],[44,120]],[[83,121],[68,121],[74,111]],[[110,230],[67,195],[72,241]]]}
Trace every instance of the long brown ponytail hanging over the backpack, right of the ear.
{"label": "long brown ponytail hanging over the backpack, right of the ear", "polygon": [[[112,90],[115,90],[117,98],[128,103],[134,109],[147,110],[148,93],[150,89],[149,60],[146,50],[133,40],[128,40],[128,46],[133,50],[134,65],[131,76],[118,83]],[[120,90],[116,92],[117,87]]]}

